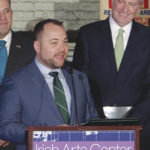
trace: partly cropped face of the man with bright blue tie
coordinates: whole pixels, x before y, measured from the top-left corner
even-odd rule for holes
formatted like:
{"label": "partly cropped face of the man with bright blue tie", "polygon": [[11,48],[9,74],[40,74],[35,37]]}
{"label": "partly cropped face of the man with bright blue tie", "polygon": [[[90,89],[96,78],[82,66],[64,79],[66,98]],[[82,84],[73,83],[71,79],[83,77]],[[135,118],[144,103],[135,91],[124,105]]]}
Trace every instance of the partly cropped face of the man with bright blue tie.
{"label": "partly cropped face of the man with bright blue tie", "polygon": [[0,39],[4,38],[12,26],[12,10],[8,0],[0,0]]}

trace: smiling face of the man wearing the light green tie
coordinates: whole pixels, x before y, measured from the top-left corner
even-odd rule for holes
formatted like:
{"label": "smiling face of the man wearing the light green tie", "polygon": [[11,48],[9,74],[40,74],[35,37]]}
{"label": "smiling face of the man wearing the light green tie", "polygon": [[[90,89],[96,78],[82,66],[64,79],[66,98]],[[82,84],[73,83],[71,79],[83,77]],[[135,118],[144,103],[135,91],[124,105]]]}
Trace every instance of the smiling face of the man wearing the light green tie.
{"label": "smiling face of the man wearing the light green tie", "polygon": [[112,17],[123,27],[135,17],[139,7],[139,0],[112,0]]}

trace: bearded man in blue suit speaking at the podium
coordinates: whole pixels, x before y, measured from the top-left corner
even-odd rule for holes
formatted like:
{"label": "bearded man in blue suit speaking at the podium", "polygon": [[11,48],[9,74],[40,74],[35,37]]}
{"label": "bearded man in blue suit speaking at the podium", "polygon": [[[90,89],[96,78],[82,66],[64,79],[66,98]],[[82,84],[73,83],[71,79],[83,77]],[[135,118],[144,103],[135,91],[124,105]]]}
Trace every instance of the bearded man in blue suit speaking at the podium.
{"label": "bearded man in blue suit speaking at the podium", "polygon": [[[7,76],[0,90],[0,138],[16,143],[17,150],[27,150],[27,126],[74,126],[98,116],[86,76],[62,68],[68,53],[62,23],[43,20],[35,26],[34,33],[35,60]],[[63,90],[55,85],[56,72]],[[65,97],[66,106],[57,101],[56,90],[61,91],[61,98]],[[61,109],[67,114],[67,122]]]}

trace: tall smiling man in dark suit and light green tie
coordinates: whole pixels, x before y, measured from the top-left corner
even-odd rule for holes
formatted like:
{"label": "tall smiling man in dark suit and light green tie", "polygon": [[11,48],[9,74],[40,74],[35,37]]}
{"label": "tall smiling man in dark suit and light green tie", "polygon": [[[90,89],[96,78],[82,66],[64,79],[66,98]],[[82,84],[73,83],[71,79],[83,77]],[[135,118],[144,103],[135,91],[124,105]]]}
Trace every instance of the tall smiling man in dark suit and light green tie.
{"label": "tall smiling man in dark suit and light green tie", "polygon": [[[100,111],[103,106],[132,107],[127,117],[141,119],[141,150],[146,150],[150,147],[150,29],[132,20],[140,2],[112,0],[108,19],[83,26],[73,66],[88,75]],[[124,30],[124,54],[117,66],[115,45],[120,28]]]}

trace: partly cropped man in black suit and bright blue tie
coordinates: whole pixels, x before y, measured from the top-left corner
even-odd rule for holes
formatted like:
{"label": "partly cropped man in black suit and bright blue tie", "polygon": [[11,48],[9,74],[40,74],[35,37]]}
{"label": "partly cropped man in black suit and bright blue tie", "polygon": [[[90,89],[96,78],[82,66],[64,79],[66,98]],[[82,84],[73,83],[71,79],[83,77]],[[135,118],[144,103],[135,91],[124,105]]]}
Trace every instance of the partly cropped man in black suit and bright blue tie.
{"label": "partly cropped man in black suit and bright blue tie", "polygon": [[[22,68],[31,62],[35,55],[33,39],[30,32],[13,32],[11,30],[12,13],[10,0],[0,0],[0,40],[6,41],[5,46],[8,55],[4,75],[8,75]],[[0,140],[0,146],[5,147],[8,143]],[[13,149],[11,145],[6,148],[3,147],[0,147],[0,150]]]}

